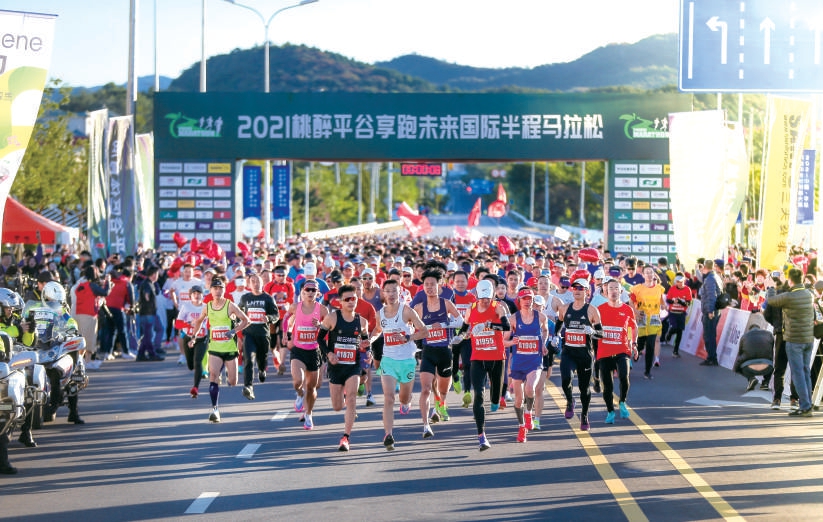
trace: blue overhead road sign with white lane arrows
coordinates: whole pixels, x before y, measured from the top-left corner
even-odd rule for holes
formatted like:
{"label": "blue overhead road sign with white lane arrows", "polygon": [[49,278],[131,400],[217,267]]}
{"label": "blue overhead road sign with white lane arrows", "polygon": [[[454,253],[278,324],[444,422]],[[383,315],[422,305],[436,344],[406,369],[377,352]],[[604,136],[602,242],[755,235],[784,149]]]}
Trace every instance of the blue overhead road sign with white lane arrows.
{"label": "blue overhead road sign with white lane arrows", "polygon": [[681,0],[679,87],[823,92],[820,0]]}

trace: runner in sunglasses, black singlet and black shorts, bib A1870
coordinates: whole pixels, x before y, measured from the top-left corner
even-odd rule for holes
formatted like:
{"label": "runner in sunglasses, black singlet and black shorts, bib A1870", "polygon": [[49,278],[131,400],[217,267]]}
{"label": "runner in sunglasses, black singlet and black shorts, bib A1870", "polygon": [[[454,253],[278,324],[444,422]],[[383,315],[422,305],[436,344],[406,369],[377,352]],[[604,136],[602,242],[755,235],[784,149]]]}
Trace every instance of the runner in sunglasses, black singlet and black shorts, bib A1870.
{"label": "runner in sunglasses, black singlet and black shorts, bib A1870", "polygon": [[338,449],[349,451],[349,439],[354,427],[357,407],[357,383],[360,379],[360,358],[371,360],[366,320],[354,312],[357,294],[354,287],[340,287],[341,310],[328,314],[320,324],[317,342],[329,360],[329,392],[334,411],[344,405],[346,416],[343,437]]}

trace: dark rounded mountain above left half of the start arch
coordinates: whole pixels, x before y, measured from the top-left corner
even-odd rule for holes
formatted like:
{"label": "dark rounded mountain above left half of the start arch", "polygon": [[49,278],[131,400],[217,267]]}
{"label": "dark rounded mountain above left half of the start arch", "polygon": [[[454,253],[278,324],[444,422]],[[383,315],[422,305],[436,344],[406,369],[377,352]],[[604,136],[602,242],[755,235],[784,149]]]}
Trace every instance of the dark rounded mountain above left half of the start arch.
{"label": "dark rounded mountain above left half of the start arch", "polygon": [[[209,58],[207,91],[263,91],[263,47],[235,49]],[[272,92],[357,91],[423,92],[438,88],[420,78],[391,69],[375,67],[305,45],[272,47],[270,90]],[[169,85],[170,91],[197,91],[200,63],[195,63]]]}

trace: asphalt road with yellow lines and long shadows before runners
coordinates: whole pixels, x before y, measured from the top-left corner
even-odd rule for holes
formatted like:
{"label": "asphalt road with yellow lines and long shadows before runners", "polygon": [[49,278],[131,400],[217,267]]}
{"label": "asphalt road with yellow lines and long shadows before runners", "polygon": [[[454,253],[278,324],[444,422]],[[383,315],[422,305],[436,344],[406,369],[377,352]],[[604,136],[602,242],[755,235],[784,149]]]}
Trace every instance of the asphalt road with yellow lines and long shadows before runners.
{"label": "asphalt road with yellow lines and long shadows before runners", "polygon": [[[211,424],[208,384],[189,398],[191,375],[176,357],[117,360],[91,374],[80,400],[87,424],[68,424],[64,409],[35,432],[39,447],[12,442],[20,473],[0,477],[0,519],[817,519],[823,414],[772,411],[767,393],[744,392],[743,377],[670,352],[663,347],[654,380],[632,371],[630,419],[604,424],[595,396],[588,434],[552,400],[555,368],[543,431],[516,443],[510,405],[488,415],[483,453],[471,410],[453,393],[451,420],[429,440],[415,395],[412,413],[396,416],[394,452],[381,443],[382,394],[372,408],[359,399],[352,451],[340,453],[343,417],[326,387],[311,432],[292,410],[287,377],[256,385],[253,402],[240,387],[221,388],[223,422]],[[715,402],[689,402],[700,397]]]}

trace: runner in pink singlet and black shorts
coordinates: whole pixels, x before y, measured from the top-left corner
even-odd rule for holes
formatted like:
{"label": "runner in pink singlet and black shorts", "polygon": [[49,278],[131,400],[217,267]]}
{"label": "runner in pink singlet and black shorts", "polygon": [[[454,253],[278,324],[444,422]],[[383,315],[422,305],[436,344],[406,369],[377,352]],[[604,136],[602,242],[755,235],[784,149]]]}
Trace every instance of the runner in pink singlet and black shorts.
{"label": "runner in pink singlet and black shorts", "polygon": [[300,301],[291,305],[286,315],[286,343],[291,351],[291,378],[297,395],[294,411],[303,413],[303,428],[314,429],[312,412],[317,400],[322,357],[317,342],[318,327],[328,311],[317,302],[318,287],[314,281],[306,281],[300,290]]}

